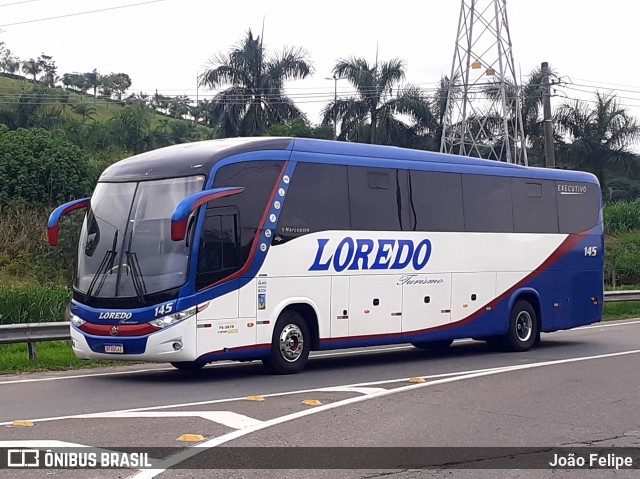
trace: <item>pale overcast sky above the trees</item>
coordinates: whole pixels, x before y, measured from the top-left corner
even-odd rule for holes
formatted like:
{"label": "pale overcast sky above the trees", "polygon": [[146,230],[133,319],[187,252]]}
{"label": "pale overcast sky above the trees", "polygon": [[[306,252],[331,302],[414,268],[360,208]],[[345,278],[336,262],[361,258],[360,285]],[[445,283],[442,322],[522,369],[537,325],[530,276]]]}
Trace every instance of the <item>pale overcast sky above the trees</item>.
{"label": "pale overcast sky above the trees", "polygon": [[[467,0],[469,1],[469,0]],[[486,1],[486,0],[483,0]],[[53,56],[58,74],[128,73],[131,92],[186,94],[217,52],[226,52],[248,29],[267,48],[304,47],[313,77],[287,91],[313,122],[333,99],[331,70],[338,58],[400,57],[407,82],[432,88],[449,75],[460,13],[457,0],[0,0],[0,41],[19,58]],[[139,4],[139,5],[135,5]],[[92,10],[116,8],[81,14]],[[640,116],[640,2],[634,0],[509,0],[516,69],[526,76],[548,61],[565,80],[570,98],[595,89],[617,90]],[[37,21],[48,17],[64,18]],[[26,22],[20,23],[19,22]],[[578,90],[584,90],[580,92]],[[350,91],[338,81],[338,93]],[[200,97],[211,92],[202,88]],[[559,105],[561,98],[554,98]]]}

